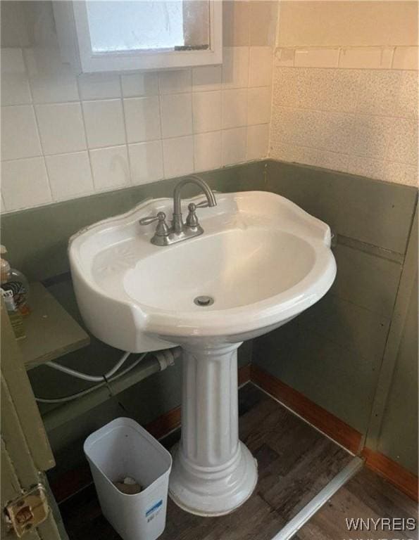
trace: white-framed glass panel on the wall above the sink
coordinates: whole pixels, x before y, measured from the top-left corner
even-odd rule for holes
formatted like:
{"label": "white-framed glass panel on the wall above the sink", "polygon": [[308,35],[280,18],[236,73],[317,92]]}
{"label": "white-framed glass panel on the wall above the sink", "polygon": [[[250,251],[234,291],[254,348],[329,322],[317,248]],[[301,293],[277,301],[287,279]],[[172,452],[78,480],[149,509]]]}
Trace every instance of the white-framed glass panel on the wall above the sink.
{"label": "white-framed glass panel on the wall above the sink", "polygon": [[[70,11],[60,4],[70,4]],[[73,20],[82,72],[221,63],[221,11],[219,0],[76,0],[54,6],[62,49],[71,46]]]}

